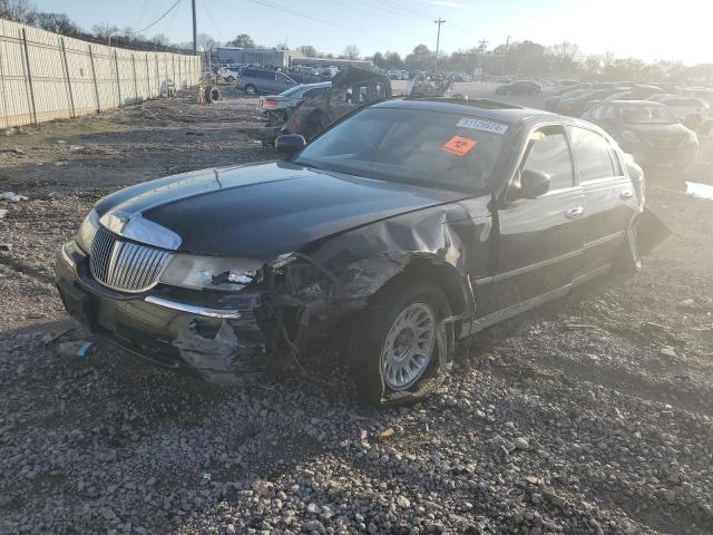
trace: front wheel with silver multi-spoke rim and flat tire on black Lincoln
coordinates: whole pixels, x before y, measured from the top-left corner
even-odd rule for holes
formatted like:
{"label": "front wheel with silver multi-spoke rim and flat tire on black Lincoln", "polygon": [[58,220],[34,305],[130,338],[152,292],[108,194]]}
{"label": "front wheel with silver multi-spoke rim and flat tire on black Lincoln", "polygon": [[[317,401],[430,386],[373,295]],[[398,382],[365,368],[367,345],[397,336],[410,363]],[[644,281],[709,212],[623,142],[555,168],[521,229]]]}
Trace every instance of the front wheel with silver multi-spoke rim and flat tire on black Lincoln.
{"label": "front wheel with silver multi-spoke rim and flat tire on black Lincoln", "polygon": [[[356,319],[350,337],[350,364],[362,401],[379,407],[407,405],[440,386],[455,346],[452,324],[439,325],[449,315],[446,294],[433,283],[402,276],[382,288]],[[413,338],[412,324],[430,329],[420,334],[420,342]],[[414,353],[414,348],[423,352]]]}

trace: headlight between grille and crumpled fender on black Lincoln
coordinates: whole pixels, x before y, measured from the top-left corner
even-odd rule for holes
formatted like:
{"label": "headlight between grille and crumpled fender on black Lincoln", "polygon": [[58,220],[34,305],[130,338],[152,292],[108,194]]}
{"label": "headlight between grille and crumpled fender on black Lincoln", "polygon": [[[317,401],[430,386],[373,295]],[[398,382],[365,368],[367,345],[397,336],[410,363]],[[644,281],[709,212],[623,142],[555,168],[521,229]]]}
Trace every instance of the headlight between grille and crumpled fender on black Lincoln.
{"label": "headlight between grille and crumpled fender on black Lincoln", "polygon": [[237,291],[255,281],[264,262],[176,254],[160,275],[160,282],[194,290]]}

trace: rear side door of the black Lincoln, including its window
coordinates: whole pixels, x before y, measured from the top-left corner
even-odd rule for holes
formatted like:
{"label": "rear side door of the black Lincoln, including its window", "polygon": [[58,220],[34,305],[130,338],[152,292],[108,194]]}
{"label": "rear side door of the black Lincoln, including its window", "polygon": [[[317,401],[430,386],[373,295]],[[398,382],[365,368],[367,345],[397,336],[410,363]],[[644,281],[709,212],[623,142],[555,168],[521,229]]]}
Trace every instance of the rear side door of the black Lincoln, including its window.
{"label": "rear side door of the black Lincoln, including its window", "polygon": [[596,275],[608,268],[624,240],[637,200],[634,186],[612,142],[598,132],[568,127],[575,173],[584,194],[586,235],[584,260],[575,279]]}

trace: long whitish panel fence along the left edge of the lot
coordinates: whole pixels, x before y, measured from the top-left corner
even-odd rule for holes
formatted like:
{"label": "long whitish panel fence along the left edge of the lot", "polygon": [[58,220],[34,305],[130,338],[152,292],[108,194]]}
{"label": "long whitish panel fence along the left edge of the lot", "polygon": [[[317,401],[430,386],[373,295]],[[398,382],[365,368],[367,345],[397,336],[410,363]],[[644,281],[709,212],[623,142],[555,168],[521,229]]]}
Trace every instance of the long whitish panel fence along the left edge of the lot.
{"label": "long whitish panel fence along the left edge of the lot", "polygon": [[0,128],[77,117],[196,85],[201,58],[111,48],[0,19]]}

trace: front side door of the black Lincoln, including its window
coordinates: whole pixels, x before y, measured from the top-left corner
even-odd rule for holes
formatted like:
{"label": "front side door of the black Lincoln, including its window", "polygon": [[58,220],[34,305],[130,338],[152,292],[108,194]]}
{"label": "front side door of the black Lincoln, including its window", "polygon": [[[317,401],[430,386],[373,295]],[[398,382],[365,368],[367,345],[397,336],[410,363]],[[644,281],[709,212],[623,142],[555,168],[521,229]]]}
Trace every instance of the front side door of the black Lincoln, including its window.
{"label": "front side door of the black Lincoln, including its window", "polygon": [[[548,174],[549,191],[521,198],[519,176],[526,169]],[[496,269],[481,314],[528,308],[566,291],[582,262],[584,195],[561,125],[530,133],[517,173],[498,210]]]}

